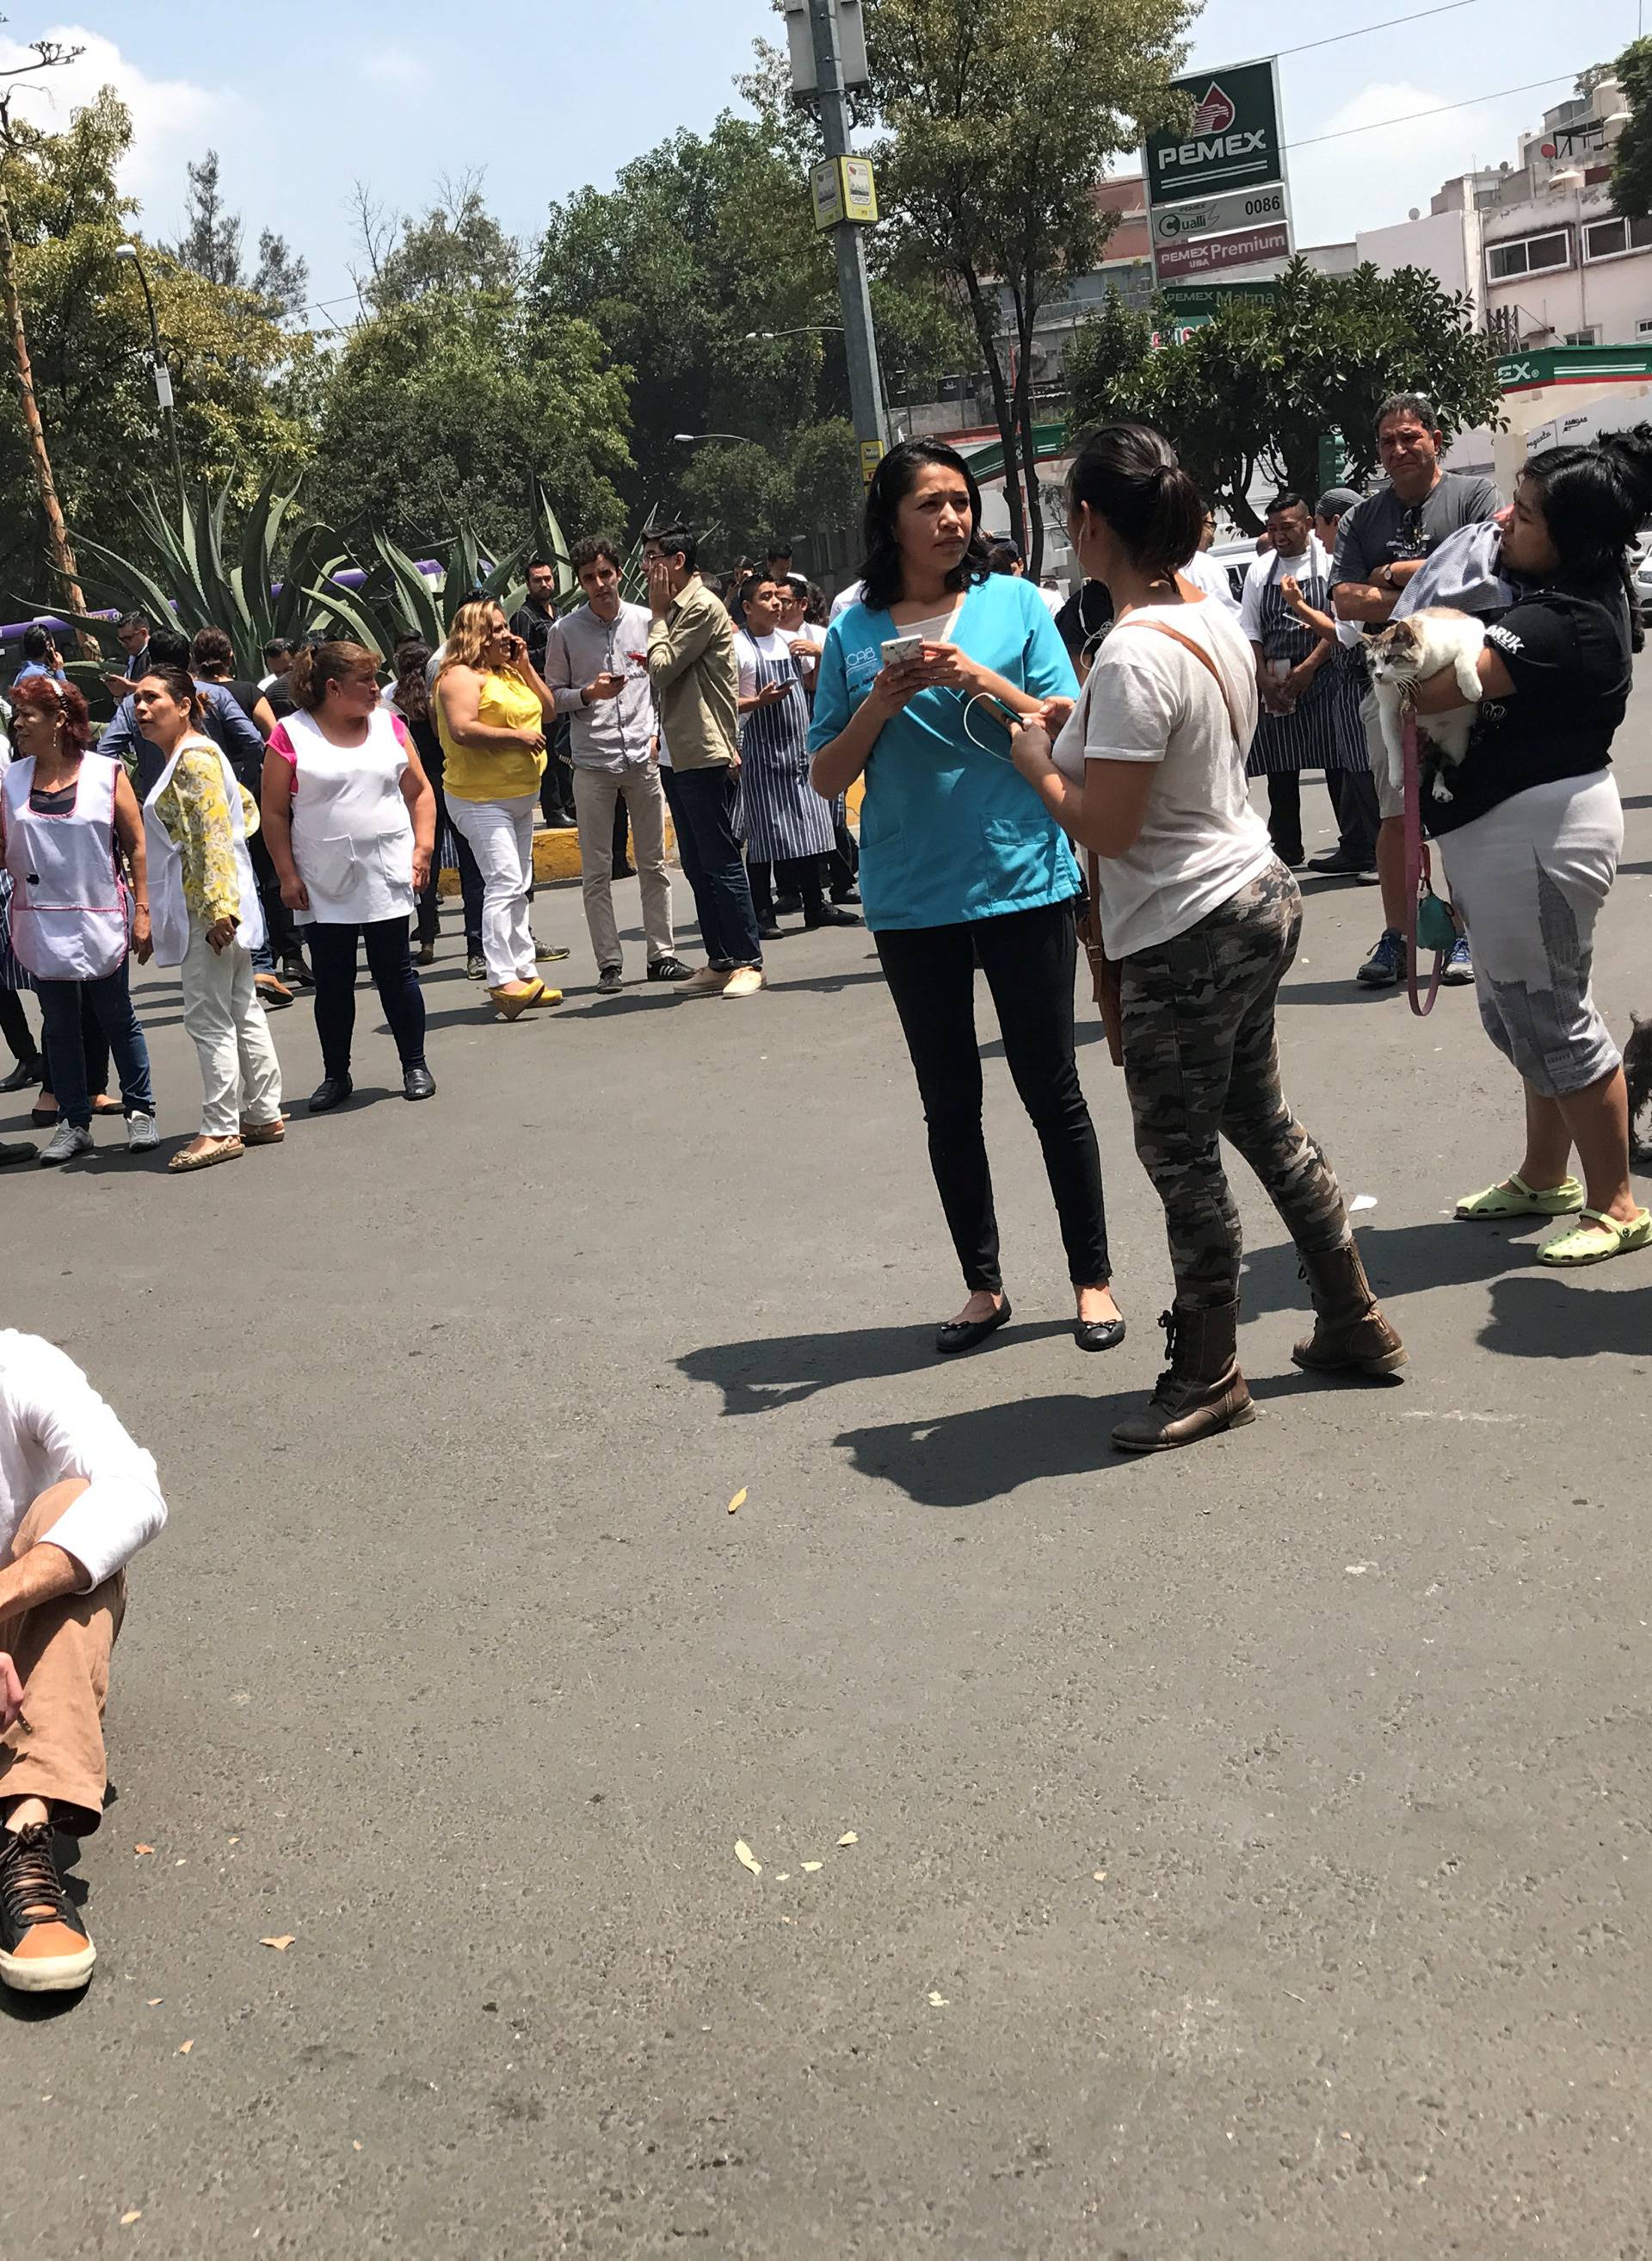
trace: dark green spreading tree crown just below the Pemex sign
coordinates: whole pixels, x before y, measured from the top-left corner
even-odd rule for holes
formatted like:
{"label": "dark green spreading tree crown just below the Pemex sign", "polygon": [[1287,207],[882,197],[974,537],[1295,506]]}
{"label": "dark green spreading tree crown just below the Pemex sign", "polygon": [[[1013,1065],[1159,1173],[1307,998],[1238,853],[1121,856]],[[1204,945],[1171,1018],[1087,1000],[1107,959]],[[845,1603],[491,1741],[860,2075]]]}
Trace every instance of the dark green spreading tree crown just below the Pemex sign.
{"label": "dark green spreading tree crown just below the Pemex sign", "polygon": [[1342,434],[1349,477],[1370,477],[1376,409],[1394,391],[1428,393],[1446,432],[1501,423],[1492,339],[1473,328],[1469,298],[1421,267],[1324,276],[1297,258],[1270,301],[1225,298],[1211,323],[1159,348],[1141,317],[1110,301],[1067,366],[1078,427],[1112,416],[1159,425],[1205,495],[1252,534],[1257,475],[1313,493],[1327,434]]}

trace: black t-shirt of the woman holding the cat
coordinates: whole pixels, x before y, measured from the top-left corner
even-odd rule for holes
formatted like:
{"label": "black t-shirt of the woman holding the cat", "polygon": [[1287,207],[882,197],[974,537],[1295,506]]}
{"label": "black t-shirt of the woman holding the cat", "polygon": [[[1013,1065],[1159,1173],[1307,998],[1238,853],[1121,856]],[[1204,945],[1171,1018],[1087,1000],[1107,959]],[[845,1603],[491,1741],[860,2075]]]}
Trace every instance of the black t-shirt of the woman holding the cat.
{"label": "black t-shirt of the woman holding the cat", "polygon": [[1446,771],[1451,800],[1433,798],[1435,764],[1426,764],[1421,816],[1435,839],[1534,785],[1605,769],[1629,703],[1629,610],[1618,581],[1525,590],[1485,640],[1514,692],[1480,701],[1469,751]]}

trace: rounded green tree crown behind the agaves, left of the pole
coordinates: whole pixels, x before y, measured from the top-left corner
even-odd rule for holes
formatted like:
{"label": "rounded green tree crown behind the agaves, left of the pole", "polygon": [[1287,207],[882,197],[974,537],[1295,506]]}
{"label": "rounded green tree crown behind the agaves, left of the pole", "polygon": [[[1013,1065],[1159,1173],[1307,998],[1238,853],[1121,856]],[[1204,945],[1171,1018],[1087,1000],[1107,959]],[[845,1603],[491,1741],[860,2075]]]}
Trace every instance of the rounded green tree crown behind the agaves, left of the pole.
{"label": "rounded green tree crown behind the agaves, left of the pole", "polygon": [[312,509],[418,556],[461,518],[508,547],[538,477],[576,527],[617,522],[626,391],[590,323],[511,292],[425,289],[357,330],[325,380]]}

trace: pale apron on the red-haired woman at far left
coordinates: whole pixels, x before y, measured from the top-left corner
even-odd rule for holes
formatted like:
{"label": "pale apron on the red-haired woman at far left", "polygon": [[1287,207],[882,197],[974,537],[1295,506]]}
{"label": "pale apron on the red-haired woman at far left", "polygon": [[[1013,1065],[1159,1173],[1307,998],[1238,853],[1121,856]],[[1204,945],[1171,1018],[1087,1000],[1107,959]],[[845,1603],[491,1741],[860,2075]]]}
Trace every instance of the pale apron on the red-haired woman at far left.
{"label": "pale apron on the red-haired woman at far left", "polygon": [[102,981],[127,956],[131,895],[115,861],[115,778],[108,755],[81,755],[75,807],[36,816],[34,755],[5,776],[11,950],[38,981]]}

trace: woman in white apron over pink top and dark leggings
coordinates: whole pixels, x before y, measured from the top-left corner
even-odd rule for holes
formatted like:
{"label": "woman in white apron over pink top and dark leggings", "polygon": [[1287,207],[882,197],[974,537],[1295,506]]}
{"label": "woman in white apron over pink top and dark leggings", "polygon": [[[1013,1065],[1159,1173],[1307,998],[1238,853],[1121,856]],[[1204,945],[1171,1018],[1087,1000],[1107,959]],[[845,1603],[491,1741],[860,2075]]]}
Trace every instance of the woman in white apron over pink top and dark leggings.
{"label": "woman in white apron over pink top and dark leggings", "polygon": [[264,753],[264,839],[280,900],[305,927],[316,979],[321,1083],[310,1112],[344,1106],[355,1036],[355,952],[402,1056],[402,1099],[436,1090],[407,922],[429,877],[436,796],[407,724],[380,705],[377,653],[314,638],[287,676],[294,712]]}

